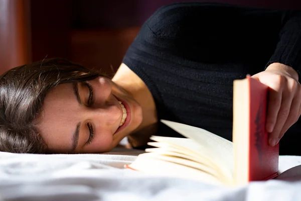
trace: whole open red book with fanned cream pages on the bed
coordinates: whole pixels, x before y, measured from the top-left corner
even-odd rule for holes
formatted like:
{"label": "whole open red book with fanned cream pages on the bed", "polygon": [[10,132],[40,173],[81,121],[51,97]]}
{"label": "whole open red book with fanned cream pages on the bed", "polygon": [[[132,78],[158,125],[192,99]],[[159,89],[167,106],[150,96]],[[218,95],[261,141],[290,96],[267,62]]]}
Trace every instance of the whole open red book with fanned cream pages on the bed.
{"label": "whole open red book with fanned cream pages on the bed", "polygon": [[251,77],[234,81],[233,143],[206,130],[162,120],[186,138],[152,136],[128,168],[155,175],[240,185],[277,176],[279,146],[265,131],[267,86]]}

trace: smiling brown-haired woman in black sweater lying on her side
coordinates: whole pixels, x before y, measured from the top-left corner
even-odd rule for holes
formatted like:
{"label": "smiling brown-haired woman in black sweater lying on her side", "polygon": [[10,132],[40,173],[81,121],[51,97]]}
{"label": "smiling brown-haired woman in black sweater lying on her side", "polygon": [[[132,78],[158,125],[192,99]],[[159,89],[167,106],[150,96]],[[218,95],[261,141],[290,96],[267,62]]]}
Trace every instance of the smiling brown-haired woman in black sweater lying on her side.
{"label": "smiling brown-haired woman in black sweater lying on her side", "polygon": [[251,74],[270,87],[270,146],[286,132],[280,154],[300,155],[300,16],[173,4],[144,23],[112,80],[62,59],[11,69],[1,77],[0,150],[105,152],[125,136],[143,148],[150,135],[177,136],[160,119],[231,140],[233,80]]}

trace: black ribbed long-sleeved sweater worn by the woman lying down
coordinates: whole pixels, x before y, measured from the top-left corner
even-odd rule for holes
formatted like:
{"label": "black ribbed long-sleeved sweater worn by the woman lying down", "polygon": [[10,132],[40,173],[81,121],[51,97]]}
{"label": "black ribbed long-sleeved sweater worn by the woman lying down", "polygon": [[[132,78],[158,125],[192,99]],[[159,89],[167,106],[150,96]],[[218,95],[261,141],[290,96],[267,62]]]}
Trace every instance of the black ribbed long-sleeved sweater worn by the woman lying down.
{"label": "black ribbed long-sleeved sweater worn by the woman lying down", "polygon": [[[152,92],[159,119],[232,140],[233,80],[263,71],[273,62],[298,71],[300,16],[297,11],[227,4],[165,6],[143,24],[123,63]],[[296,141],[298,125],[285,134],[282,147]],[[160,128],[157,135],[167,135],[166,128]],[[280,143],[281,149],[287,150]]]}

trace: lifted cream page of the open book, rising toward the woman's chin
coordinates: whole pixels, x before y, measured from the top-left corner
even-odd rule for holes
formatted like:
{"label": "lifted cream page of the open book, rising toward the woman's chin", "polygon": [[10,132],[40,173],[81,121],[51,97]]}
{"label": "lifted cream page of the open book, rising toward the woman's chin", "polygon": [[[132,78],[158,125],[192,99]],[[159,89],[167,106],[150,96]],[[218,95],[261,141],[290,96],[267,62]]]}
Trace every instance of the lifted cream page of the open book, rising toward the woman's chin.
{"label": "lifted cream page of the open book, rising toward the woman's chin", "polygon": [[186,146],[189,146],[189,149],[200,155],[208,156],[220,168],[225,177],[233,178],[234,157],[232,142],[197,127],[167,120],[161,120],[161,122],[181,135],[195,141],[200,146],[191,146],[190,144]]}

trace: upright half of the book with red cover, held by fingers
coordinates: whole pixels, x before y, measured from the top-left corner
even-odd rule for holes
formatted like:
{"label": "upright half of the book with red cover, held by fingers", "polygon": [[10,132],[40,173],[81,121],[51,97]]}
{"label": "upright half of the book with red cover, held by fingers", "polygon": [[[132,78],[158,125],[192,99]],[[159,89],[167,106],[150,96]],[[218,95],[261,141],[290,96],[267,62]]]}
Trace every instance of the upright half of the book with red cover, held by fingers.
{"label": "upright half of the book with red cover, held by fingers", "polygon": [[247,76],[233,85],[234,180],[237,184],[277,176],[279,145],[265,129],[268,87]]}

